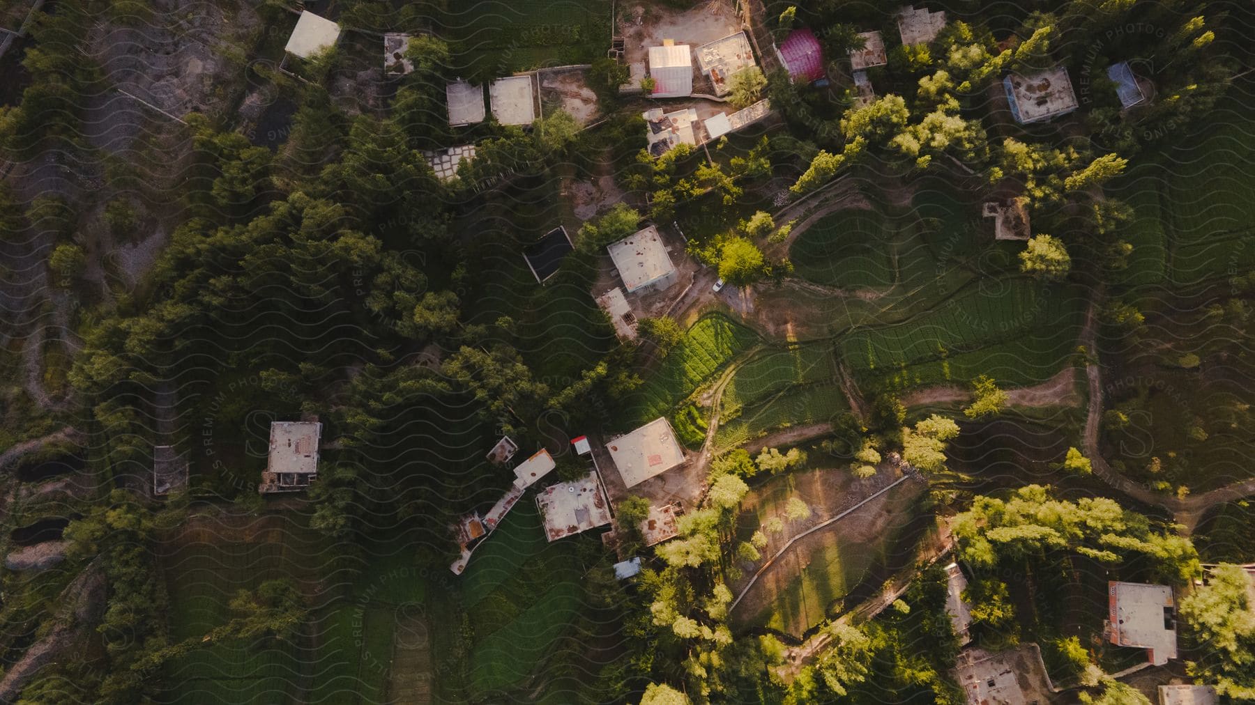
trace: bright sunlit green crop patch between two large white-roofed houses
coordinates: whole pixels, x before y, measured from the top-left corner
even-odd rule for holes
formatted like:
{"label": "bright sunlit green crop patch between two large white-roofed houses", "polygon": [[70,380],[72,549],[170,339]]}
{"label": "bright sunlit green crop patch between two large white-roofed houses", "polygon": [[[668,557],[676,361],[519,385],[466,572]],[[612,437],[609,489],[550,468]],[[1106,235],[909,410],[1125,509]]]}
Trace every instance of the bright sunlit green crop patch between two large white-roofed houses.
{"label": "bright sunlit green crop patch between two large white-roofed houses", "polygon": [[715,314],[698,319],[658,371],[634,393],[624,425],[630,429],[670,415],[680,401],[757,339],[752,330],[727,316]]}

